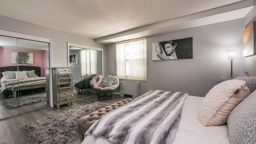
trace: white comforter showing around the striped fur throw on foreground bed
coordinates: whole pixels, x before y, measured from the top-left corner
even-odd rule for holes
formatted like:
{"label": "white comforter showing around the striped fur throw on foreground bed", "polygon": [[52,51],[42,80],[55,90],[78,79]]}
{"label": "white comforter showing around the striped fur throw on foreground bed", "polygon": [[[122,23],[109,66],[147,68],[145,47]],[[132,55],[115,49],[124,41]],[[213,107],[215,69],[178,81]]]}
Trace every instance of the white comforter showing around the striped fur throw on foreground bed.
{"label": "white comforter showing around the striped fur throw on foreground bed", "polygon": [[[187,96],[180,124],[174,138],[174,144],[230,144],[228,127],[202,126],[199,122],[199,111],[203,97]],[[111,144],[104,137],[92,134],[85,137],[82,144]]]}

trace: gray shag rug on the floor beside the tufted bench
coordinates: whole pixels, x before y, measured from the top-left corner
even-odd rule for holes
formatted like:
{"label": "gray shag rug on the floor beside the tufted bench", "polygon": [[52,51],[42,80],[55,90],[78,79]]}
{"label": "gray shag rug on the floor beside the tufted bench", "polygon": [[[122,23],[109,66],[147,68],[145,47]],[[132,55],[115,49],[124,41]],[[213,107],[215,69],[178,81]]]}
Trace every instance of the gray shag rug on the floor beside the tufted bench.
{"label": "gray shag rug on the floor beside the tufted bench", "polygon": [[77,120],[109,104],[94,102],[54,114],[23,127],[27,140],[32,144],[71,144],[78,140]]}

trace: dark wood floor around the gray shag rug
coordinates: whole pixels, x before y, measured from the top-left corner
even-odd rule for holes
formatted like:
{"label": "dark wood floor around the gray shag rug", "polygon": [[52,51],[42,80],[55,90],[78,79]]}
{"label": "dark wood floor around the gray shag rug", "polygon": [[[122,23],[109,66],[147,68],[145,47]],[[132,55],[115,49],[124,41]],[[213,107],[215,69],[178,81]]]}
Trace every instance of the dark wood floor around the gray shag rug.
{"label": "dark wood floor around the gray shag rug", "polygon": [[[60,109],[56,107],[44,108],[42,110],[30,112],[7,120],[0,121],[0,143],[1,144],[29,144],[22,128],[36,120],[42,120],[45,117],[58,114],[60,112],[71,110],[82,105],[91,104],[93,102],[104,102],[107,104],[114,104],[124,99],[120,95],[113,94],[110,100],[98,100],[97,96],[90,96],[80,100],[75,100],[73,105],[65,104],[60,106]],[[79,144],[80,140],[76,140],[73,144]]]}

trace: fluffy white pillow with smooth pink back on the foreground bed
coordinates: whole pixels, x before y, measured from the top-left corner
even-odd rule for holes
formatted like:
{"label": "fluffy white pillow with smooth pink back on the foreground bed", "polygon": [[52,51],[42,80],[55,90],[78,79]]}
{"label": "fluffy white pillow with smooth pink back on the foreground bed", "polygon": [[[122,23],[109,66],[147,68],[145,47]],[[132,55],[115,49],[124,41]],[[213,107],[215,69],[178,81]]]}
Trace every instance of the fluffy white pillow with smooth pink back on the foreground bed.
{"label": "fluffy white pillow with smooth pink back on the foreground bed", "polygon": [[250,94],[245,84],[242,80],[226,80],[214,86],[200,107],[200,123],[203,126],[226,123],[230,112]]}

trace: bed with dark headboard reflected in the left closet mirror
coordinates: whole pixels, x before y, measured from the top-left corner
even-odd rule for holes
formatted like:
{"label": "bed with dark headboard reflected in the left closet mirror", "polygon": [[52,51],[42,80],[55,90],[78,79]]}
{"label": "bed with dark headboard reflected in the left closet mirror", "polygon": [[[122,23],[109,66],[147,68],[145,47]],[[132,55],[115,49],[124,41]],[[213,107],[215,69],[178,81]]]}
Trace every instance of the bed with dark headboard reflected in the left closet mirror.
{"label": "bed with dark headboard reflected in the left closet mirror", "polygon": [[[16,76],[19,79],[16,79]],[[38,66],[0,67],[0,78],[0,93],[5,97],[10,94],[17,97],[18,91],[45,90],[46,87],[46,78],[41,77],[41,67]]]}

